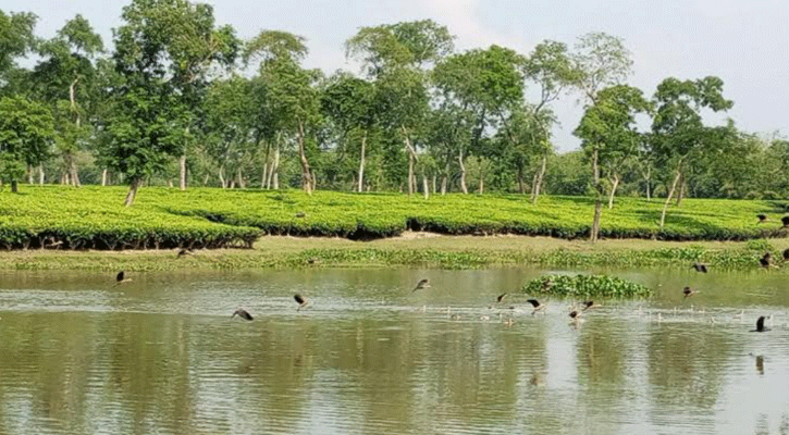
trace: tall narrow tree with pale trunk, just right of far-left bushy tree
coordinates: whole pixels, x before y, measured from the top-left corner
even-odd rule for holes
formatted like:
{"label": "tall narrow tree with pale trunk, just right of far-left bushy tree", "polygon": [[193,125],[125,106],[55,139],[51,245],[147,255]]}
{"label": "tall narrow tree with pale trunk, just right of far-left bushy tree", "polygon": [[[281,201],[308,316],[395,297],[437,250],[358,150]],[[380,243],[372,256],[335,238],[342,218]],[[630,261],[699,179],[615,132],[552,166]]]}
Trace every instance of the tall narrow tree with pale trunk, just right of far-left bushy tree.
{"label": "tall narrow tree with pale trunk, just right of far-left bushy tree", "polygon": [[95,113],[99,99],[94,58],[102,50],[101,37],[93,32],[87,20],[76,15],[54,38],[39,45],[38,53],[44,60],[33,73],[36,94],[51,105],[56,115],[56,145],[65,163],[64,178],[75,187],[79,186],[75,154],[90,136],[85,119]]}

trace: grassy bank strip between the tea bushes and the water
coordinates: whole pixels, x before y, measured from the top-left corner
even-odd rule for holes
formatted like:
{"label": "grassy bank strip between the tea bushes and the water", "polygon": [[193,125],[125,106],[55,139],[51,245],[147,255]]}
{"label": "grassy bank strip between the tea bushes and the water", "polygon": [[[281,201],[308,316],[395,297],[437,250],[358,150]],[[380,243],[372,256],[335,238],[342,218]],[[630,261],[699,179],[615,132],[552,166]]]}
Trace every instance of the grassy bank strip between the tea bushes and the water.
{"label": "grassy bank strip between the tea bushes and the water", "polygon": [[[689,268],[694,261],[711,268],[759,269],[766,250],[776,260],[789,240],[663,241],[644,239],[566,240],[516,235],[448,236],[406,232],[402,236],[355,241],[338,237],[263,236],[252,249],[196,250],[177,257],[177,249],[66,251],[30,249],[0,251],[2,271],[177,271],[299,268],[481,269],[506,265]],[[776,263],[782,263],[776,261]],[[782,266],[782,264],[779,264]],[[789,268],[782,268],[789,269]]]}

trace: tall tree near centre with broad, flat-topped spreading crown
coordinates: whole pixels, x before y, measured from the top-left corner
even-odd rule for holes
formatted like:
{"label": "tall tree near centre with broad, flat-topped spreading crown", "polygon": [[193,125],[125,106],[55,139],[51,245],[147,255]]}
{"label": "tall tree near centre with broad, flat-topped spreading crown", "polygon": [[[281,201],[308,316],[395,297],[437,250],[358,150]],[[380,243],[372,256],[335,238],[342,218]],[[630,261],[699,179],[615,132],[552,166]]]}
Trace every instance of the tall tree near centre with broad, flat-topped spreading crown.
{"label": "tall tree near centre with broad, flat-topped spreading crown", "polygon": [[408,154],[408,194],[416,189],[417,146],[426,127],[428,67],[452,52],[453,36],[431,20],[362,27],[345,44],[346,54],[362,61],[375,79],[385,127],[398,132]]}

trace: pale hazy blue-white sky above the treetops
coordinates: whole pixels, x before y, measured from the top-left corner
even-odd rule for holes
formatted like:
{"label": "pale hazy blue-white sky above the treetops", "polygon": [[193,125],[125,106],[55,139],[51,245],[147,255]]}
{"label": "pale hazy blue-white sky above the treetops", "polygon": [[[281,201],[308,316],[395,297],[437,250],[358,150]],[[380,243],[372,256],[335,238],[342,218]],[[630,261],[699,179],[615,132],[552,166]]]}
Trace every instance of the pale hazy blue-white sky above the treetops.
{"label": "pale hazy blue-white sky above the treetops", "polygon": [[[4,12],[34,12],[36,34],[51,37],[77,13],[111,45],[122,25],[116,0],[0,0]],[[786,0],[217,0],[218,24],[242,38],[279,29],[307,38],[307,67],[358,73],[343,45],[359,27],[431,18],[455,35],[456,51],[496,44],[528,54],[545,39],[572,47],[590,32],[624,39],[633,58],[627,83],[652,96],[666,77],[715,75],[735,105],[726,113],[741,130],[789,134],[789,2]],[[558,151],[578,149],[572,129],[579,95],[553,103]],[[720,121],[720,117],[712,119]]]}

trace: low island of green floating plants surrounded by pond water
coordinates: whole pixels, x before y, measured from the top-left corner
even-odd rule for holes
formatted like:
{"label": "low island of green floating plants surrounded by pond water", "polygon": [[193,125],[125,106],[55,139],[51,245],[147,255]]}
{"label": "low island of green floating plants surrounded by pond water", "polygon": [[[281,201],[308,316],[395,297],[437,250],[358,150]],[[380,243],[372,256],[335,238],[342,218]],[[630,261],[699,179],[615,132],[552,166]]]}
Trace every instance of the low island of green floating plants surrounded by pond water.
{"label": "low island of green floating plants surrounded by pond water", "polygon": [[633,298],[652,295],[649,287],[607,275],[547,275],[525,284],[522,291],[527,295],[570,298]]}

